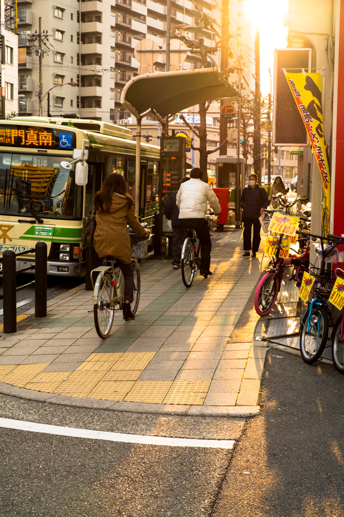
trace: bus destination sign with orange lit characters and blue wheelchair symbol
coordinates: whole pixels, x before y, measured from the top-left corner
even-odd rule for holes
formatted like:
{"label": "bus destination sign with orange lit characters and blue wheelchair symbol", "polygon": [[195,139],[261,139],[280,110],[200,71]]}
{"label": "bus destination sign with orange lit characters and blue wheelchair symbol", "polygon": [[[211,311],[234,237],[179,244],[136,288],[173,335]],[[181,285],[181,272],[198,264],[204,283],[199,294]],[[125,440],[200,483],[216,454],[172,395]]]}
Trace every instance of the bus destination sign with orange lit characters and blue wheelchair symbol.
{"label": "bus destination sign with orange lit characters and blue wheelchair symbol", "polygon": [[0,146],[41,148],[41,149],[73,149],[76,147],[76,136],[72,131],[37,126],[0,125]]}

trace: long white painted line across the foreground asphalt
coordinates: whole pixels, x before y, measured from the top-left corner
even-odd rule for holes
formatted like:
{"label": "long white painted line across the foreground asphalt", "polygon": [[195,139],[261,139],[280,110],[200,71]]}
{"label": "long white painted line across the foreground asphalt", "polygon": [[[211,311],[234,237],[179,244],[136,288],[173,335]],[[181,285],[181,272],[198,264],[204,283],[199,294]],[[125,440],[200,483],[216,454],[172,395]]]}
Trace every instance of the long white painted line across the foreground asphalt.
{"label": "long white painted line across the foreground asphalt", "polygon": [[76,438],[90,438],[92,440],[108,440],[110,442],[123,442],[128,444],[164,445],[170,447],[206,447],[211,449],[232,449],[234,440],[198,440],[193,438],[169,438],[165,436],[145,436],[139,434],[111,433],[107,431],[94,431],[91,429],[78,429],[74,427],[61,427],[45,423],[25,422],[0,418],[0,428],[18,429],[19,431],[31,431],[34,433],[56,434],[59,436],[73,436]]}

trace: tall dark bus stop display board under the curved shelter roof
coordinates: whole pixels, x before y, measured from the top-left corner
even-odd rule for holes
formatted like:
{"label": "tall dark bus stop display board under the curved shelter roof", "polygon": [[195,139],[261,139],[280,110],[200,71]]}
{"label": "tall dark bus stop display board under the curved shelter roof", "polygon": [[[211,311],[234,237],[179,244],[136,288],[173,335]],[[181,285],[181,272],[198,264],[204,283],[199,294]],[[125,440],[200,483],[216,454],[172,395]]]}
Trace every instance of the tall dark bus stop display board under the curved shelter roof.
{"label": "tall dark bus stop display board under the curved shelter roof", "polygon": [[160,235],[172,237],[167,226],[164,205],[185,176],[186,155],[183,136],[162,136],[160,139]]}

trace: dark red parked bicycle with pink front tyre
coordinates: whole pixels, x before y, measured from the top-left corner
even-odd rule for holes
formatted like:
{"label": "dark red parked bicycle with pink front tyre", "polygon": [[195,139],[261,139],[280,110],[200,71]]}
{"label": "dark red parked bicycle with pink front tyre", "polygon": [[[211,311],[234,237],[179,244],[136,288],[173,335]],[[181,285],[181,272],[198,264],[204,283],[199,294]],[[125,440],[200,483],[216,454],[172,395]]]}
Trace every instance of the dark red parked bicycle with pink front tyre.
{"label": "dark red parked bicycle with pink front tyre", "polygon": [[[269,214],[273,214],[273,210],[265,210]],[[305,219],[306,218],[300,218]],[[298,233],[298,232],[296,232]],[[291,280],[295,280],[297,284],[301,285],[304,271],[308,270],[309,266],[309,241],[305,249],[299,255],[288,253],[288,257],[282,256],[282,242],[283,234],[273,237],[271,242],[275,249],[275,256],[271,258],[270,264],[263,277],[261,278],[255,295],[255,309],[260,316],[266,316],[275,305],[282,279],[284,275],[285,266],[294,266],[294,272]]]}

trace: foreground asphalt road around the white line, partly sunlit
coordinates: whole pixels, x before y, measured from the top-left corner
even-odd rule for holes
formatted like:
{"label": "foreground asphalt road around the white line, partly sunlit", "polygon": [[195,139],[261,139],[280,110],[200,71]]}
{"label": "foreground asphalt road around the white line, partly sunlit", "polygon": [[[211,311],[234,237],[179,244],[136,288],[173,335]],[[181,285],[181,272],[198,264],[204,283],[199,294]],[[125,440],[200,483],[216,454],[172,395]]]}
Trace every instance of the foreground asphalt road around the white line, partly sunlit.
{"label": "foreground asphalt road around the white line, partly sunlit", "polygon": [[261,413],[140,415],[0,396],[0,417],[224,449],[112,443],[0,429],[0,517],[344,517],[343,380],[270,348]]}

